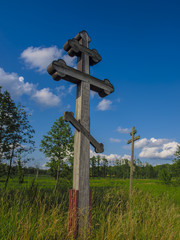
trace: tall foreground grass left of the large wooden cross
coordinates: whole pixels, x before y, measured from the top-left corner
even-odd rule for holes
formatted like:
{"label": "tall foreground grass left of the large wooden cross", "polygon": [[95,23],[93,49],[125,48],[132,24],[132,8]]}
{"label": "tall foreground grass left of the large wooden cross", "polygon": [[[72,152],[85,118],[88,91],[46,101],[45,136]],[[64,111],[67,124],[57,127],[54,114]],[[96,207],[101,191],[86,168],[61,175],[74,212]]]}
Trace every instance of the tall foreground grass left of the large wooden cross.
{"label": "tall foreground grass left of the large wooden cross", "polygon": [[67,199],[36,186],[1,193],[0,239],[67,239]]}

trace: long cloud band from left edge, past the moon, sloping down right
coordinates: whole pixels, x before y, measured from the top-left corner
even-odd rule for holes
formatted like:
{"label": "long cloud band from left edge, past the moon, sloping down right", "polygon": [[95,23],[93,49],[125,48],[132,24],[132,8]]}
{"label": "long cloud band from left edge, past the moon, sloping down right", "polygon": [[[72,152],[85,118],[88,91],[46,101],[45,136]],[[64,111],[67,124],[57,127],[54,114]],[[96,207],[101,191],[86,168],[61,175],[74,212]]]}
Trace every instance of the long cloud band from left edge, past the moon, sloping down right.
{"label": "long cloud band from left edge, past the moon, sloping down right", "polygon": [[60,103],[59,96],[53,94],[49,88],[38,90],[37,85],[25,82],[23,76],[7,73],[2,68],[0,68],[0,86],[3,90],[10,92],[13,97],[28,95],[44,107],[53,107]]}

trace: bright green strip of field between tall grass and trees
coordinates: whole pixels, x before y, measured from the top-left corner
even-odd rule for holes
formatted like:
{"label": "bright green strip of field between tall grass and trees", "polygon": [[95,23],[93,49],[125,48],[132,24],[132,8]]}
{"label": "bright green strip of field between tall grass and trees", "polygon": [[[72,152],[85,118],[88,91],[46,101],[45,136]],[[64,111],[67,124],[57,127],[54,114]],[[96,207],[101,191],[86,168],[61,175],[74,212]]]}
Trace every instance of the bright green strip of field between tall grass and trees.
{"label": "bright green strip of field between tall grass and trees", "polygon": [[[17,190],[29,188],[35,177],[33,175],[25,176],[24,183],[19,184],[17,178],[10,179],[8,184],[8,189]],[[0,179],[0,189],[4,188],[4,180]],[[62,180],[63,182],[63,180]],[[65,181],[65,187],[71,188],[72,184]],[[51,176],[39,176],[36,184],[39,189],[46,189],[48,191],[53,190],[55,187],[55,179]],[[148,192],[152,195],[163,196],[166,195],[169,197],[175,204],[180,206],[180,186],[166,185],[161,183],[157,179],[134,179],[133,180],[134,190],[141,190],[144,193]],[[129,179],[116,179],[116,178],[91,178],[90,179],[90,188],[92,189],[106,189],[106,188],[115,188],[123,190],[125,192],[129,191]]]}

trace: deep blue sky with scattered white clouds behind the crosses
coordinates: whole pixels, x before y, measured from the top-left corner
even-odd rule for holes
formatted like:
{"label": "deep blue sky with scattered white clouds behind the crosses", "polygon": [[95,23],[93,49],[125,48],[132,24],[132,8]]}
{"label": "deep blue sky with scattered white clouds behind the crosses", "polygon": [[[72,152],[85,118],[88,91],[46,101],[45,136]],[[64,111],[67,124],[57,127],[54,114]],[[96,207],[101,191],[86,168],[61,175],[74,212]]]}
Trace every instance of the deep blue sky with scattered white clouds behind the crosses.
{"label": "deep blue sky with scattered white clouds behind the crosses", "polygon": [[[86,30],[102,61],[91,75],[109,79],[115,92],[91,93],[91,134],[109,161],[129,157],[130,129],[141,136],[135,157],[170,163],[180,144],[179,1],[8,1],[0,4],[0,85],[32,113],[35,161],[42,136],[65,111],[75,112],[76,86],[46,72],[63,45]],[[93,155],[93,148],[91,155]]]}

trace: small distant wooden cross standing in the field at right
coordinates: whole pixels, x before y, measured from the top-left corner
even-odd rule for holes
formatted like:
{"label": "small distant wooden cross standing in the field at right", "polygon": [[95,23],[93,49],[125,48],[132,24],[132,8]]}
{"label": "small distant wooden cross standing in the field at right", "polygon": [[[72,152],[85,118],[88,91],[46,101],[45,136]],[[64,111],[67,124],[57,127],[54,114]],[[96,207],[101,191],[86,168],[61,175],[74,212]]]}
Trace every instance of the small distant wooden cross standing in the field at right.
{"label": "small distant wooden cross standing in the field at right", "polygon": [[134,137],[135,133],[137,131],[135,130],[135,127],[132,128],[132,132],[130,135],[132,138],[127,141],[127,144],[132,143],[131,145],[131,164],[130,164],[130,196],[132,195],[132,181],[133,181],[133,169],[134,169],[134,142],[138,139],[140,139],[140,136]]}

